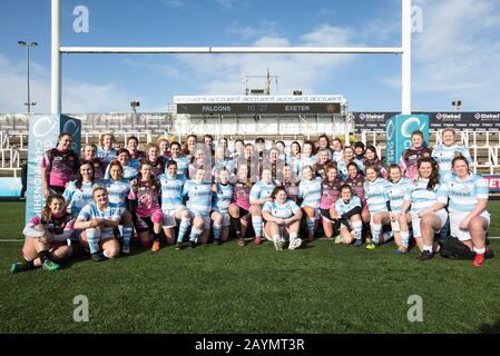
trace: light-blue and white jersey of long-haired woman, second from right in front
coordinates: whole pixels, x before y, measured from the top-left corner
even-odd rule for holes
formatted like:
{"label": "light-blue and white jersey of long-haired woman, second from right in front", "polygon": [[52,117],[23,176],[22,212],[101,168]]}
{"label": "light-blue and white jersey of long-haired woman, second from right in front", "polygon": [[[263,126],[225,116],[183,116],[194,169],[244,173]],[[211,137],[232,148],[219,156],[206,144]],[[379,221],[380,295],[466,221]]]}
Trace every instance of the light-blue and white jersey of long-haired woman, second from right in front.
{"label": "light-blue and white jersey of long-haired woman, second from right in front", "polygon": [[411,211],[420,212],[433,206],[437,201],[447,202],[447,191],[441,184],[437,184],[434,189],[428,189],[429,179],[419,178],[416,182],[411,182],[404,195],[404,200],[411,202]]}

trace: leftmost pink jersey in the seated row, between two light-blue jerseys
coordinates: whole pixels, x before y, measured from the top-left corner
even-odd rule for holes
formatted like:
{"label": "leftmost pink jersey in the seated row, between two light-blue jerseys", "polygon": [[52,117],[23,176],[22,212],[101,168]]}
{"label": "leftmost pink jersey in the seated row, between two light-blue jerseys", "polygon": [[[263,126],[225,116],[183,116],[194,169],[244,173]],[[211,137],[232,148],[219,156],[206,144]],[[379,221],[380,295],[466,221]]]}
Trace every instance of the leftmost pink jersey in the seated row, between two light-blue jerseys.
{"label": "leftmost pink jersey in the seated row, between two light-blue jerseys", "polygon": [[159,205],[160,184],[154,179],[149,181],[133,180],[128,194],[130,200],[137,200],[137,215],[139,217],[151,216],[161,210]]}

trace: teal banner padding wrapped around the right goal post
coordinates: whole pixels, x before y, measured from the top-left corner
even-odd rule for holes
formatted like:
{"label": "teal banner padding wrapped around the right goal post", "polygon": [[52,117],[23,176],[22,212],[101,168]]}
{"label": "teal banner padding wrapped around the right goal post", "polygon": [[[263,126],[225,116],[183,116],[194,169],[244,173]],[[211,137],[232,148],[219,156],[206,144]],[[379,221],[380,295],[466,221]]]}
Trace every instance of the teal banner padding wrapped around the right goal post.
{"label": "teal banner padding wrapped around the right goal post", "polygon": [[411,147],[413,131],[423,132],[423,139],[429,142],[429,116],[427,115],[396,115],[385,125],[385,162],[398,164],[401,155]]}

